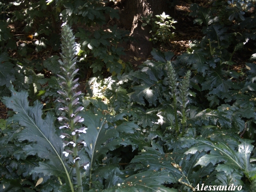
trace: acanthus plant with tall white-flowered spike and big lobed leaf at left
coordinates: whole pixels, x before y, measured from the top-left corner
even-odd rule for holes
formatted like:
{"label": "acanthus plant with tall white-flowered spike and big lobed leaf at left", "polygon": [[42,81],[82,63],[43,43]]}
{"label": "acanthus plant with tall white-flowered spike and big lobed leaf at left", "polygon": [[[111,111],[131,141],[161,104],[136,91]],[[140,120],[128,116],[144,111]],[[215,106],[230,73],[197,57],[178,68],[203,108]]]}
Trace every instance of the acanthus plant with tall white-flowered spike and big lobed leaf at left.
{"label": "acanthus plant with tall white-flowered spike and big lobed leaf at left", "polygon": [[[79,106],[78,102],[78,96],[81,92],[75,93],[75,88],[78,86],[78,78],[73,79],[78,71],[78,69],[75,68],[75,42],[72,31],[67,25],[63,25],[62,27],[61,39],[62,61],[59,61],[59,63],[61,65],[62,74],[58,76],[59,79],[61,79],[60,86],[62,90],[58,91],[61,97],[58,101],[62,104],[59,110],[61,110],[63,114],[57,119],[63,122],[59,129],[65,130],[60,134],[60,138],[64,139],[64,141],[61,141],[59,131],[55,129],[55,117],[52,113],[47,113],[46,118],[42,119],[43,115],[41,109],[43,105],[36,100],[33,106],[29,106],[27,101],[28,93],[23,90],[17,92],[13,87],[10,87],[12,93],[11,97],[3,97],[2,101],[6,106],[15,111],[15,114],[9,119],[8,124],[14,122],[18,123],[19,126],[13,125],[15,128],[13,128],[14,134],[11,134],[10,139],[6,139],[6,142],[12,141],[16,143],[17,146],[22,146],[22,144],[18,142],[23,142],[23,148],[21,147],[22,149],[15,152],[14,158],[17,161],[25,162],[23,163],[23,169],[26,170],[26,174],[23,175],[24,177],[33,174],[33,180],[41,178],[41,180],[44,180],[44,183],[47,182],[49,185],[53,184],[52,186],[59,186],[49,180],[51,176],[57,177],[60,184],[59,189],[65,189],[71,192],[82,192],[80,169],[84,168],[86,170],[89,162],[83,162],[81,166],[79,165],[80,158],[78,157],[78,150],[86,147],[86,143],[82,140],[77,141],[77,138],[79,134],[86,133],[85,130],[87,128],[79,126],[79,124],[84,121],[84,119],[78,115],[78,113],[83,110],[83,107]],[[4,141],[5,138],[1,138],[2,144],[4,144]],[[2,149],[6,149],[6,147],[7,146],[2,146]],[[8,148],[16,147],[11,145]],[[66,148],[65,151],[63,151],[63,148]],[[3,152],[4,151],[5,150],[3,150]],[[73,158],[68,156],[69,153],[73,155]],[[84,153],[86,152],[84,151]],[[5,153],[4,156],[7,154],[8,153]],[[20,154],[23,154],[21,160]],[[32,158],[33,161],[31,161],[29,156],[36,156],[37,158]],[[31,162],[33,166],[27,162]],[[5,163],[8,167],[8,162]],[[75,168],[77,186],[73,186],[72,167]],[[4,177],[6,179],[15,179],[15,177],[12,178],[8,176],[8,174],[4,174]],[[65,179],[65,183],[62,183],[62,178]],[[5,191],[13,189],[13,184],[9,181],[4,181],[3,186],[5,186]],[[17,185],[14,186],[16,187],[15,189],[17,189]],[[20,186],[22,186],[22,182],[18,186],[21,189]],[[54,189],[55,187],[52,188]]]}

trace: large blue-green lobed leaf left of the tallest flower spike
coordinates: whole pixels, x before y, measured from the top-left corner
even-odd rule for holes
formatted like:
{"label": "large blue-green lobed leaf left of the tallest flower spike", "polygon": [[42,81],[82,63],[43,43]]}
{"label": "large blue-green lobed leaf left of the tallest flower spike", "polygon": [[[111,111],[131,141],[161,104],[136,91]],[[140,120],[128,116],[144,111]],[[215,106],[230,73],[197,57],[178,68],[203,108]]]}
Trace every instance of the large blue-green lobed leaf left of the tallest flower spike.
{"label": "large blue-green lobed leaf left of the tallest flower spike", "polygon": [[36,155],[41,158],[39,167],[33,169],[33,173],[43,173],[44,175],[53,175],[65,177],[66,166],[62,161],[62,141],[55,134],[53,125],[55,117],[47,114],[42,119],[43,105],[35,101],[33,106],[28,105],[27,92],[17,92],[10,88],[11,97],[3,97],[2,102],[6,107],[16,112],[8,121],[18,122],[24,127],[18,134],[17,140],[20,142],[28,141],[31,144],[26,145],[23,151],[26,155]]}

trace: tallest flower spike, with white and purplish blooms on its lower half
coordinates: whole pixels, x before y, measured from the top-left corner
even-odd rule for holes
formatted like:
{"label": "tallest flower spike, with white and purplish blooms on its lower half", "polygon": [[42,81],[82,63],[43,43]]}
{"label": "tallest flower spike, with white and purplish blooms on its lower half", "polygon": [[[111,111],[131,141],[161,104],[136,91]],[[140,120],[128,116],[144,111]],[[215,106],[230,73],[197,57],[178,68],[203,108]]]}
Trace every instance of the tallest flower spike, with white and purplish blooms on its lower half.
{"label": "tallest flower spike, with white and purplish blooms on its lower half", "polygon": [[[62,53],[61,58],[62,61],[59,60],[59,64],[61,65],[60,69],[62,71],[61,74],[58,74],[60,79],[59,85],[62,90],[59,90],[58,93],[60,98],[58,102],[61,103],[61,107],[59,108],[62,111],[62,116],[58,117],[59,122],[63,122],[63,125],[59,127],[63,132],[60,135],[60,138],[64,139],[63,147],[65,151],[63,152],[64,156],[67,157],[69,154],[72,154],[74,158],[76,179],[77,179],[77,192],[82,192],[82,182],[81,182],[81,174],[80,174],[80,166],[79,166],[79,157],[77,156],[78,150],[76,140],[79,137],[78,133],[86,133],[85,128],[75,129],[75,126],[79,126],[81,122],[84,121],[83,118],[78,116],[77,114],[83,110],[82,106],[79,106],[78,96],[81,92],[75,92],[75,89],[78,87],[78,78],[74,79],[78,70],[75,66],[76,56],[75,56],[75,41],[72,30],[68,25],[64,24],[62,26],[61,31],[61,49]],[[75,108],[74,108],[75,107]],[[82,126],[81,126],[82,127]],[[65,128],[65,129],[63,129]],[[70,134],[67,134],[67,132]],[[77,134],[75,134],[77,132]],[[85,143],[86,145],[86,143]]]}

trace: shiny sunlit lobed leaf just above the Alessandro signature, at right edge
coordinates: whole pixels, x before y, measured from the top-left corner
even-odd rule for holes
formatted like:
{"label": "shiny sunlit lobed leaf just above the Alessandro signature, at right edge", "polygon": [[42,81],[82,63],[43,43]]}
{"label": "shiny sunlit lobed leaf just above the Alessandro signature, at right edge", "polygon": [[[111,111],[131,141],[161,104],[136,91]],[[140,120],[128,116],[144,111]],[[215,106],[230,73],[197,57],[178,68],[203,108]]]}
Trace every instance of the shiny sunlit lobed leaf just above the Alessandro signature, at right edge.
{"label": "shiny sunlit lobed leaf just above the Alessandro signature, at right edge", "polygon": [[[192,138],[193,140],[193,138]],[[218,165],[217,170],[230,174],[232,171],[248,172],[252,169],[249,158],[253,146],[250,145],[251,140],[240,139],[238,152],[231,149],[225,140],[210,141],[204,138],[196,138],[196,145],[191,147],[185,154],[194,154],[196,152],[207,151],[208,154],[202,156],[194,165],[207,166],[209,163],[216,165],[222,162],[224,165]]]}

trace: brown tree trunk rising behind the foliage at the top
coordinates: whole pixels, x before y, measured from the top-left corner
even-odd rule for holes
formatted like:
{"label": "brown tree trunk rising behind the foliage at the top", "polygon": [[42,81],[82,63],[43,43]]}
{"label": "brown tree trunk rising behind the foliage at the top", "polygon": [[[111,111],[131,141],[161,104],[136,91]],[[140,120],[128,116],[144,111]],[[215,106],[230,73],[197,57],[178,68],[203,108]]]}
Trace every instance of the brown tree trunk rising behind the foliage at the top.
{"label": "brown tree trunk rising behind the foliage at the top", "polygon": [[154,15],[162,12],[170,14],[170,8],[167,0],[121,0],[120,6],[120,25],[130,30],[130,36],[134,41],[130,43],[130,49],[137,57],[146,58],[151,50],[152,44],[148,39],[150,27],[142,27],[139,19],[141,16],[147,16],[150,13]]}

